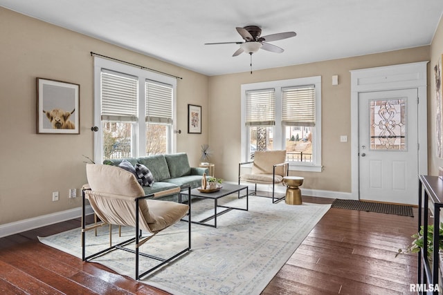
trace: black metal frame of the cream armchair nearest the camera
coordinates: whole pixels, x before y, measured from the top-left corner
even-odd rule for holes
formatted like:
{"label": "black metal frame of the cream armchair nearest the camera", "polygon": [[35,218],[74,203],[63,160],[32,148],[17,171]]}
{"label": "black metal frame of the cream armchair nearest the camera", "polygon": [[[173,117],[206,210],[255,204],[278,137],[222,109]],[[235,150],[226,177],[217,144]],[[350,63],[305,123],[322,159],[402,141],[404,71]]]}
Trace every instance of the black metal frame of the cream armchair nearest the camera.
{"label": "black metal frame of the cream armchair nearest the camera", "polygon": [[[190,186],[183,187],[181,189],[181,191],[183,191],[184,189],[188,189],[188,193],[189,193],[188,196],[190,196],[190,192],[191,192]],[[141,245],[143,245],[145,242],[147,242],[148,240],[150,240],[151,238],[153,238],[156,234],[158,234],[160,232],[160,231],[156,231],[156,232],[152,233],[152,235],[143,238],[142,231],[141,231],[141,229],[139,229],[139,226],[138,226],[138,220],[139,220],[139,216],[138,216],[138,214],[139,214],[138,213],[138,206],[139,205],[138,205],[138,203],[141,200],[145,200],[147,198],[152,198],[154,196],[154,194],[150,194],[150,195],[147,195],[147,196],[141,196],[141,197],[138,197],[138,198],[134,198],[134,206],[136,207],[136,212],[137,212],[137,214],[136,214],[135,237],[134,238],[130,238],[129,240],[125,240],[124,242],[120,242],[117,245],[111,245],[111,247],[108,247],[107,249],[103,249],[102,251],[98,251],[95,254],[91,254],[89,256],[86,256],[86,245],[85,245],[86,244],[86,242],[85,242],[86,231],[89,231],[91,229],[96,229],[97,227],[101,227],[102,225],[106,225],[107,224],[105,222],[101,222],[99,224],[91,225],[91,226],[87,227],[86,222],[85,222],[85,207],[86,207],[85,203],[86,202],[85,202],[85,193],[84,193],[84,191],[87,191],[87,190],[91,190],[91,189],[83,189],[82,190],[82,260],[83,261],[91,260],[92,258],[95,258],[95,257],[97,257],[97,256],[99,256],[101,254],[105,254],[107,252],[114,251],[116,249],[120,249],[120,250],[124,250],[124,251],[128,251],[128,252],[134,253],[134,254],[136,254],[136,270],[135,270],[135,274],[136,275],[135,275],[135,277],[136,277],[136,280],[139,280],[140,278],[143,278],[147,274],[150,274],[151,272],[154,272],[154,270],[156,270],[159,267],[165,265],[166,263],[169,263],[171,260],[177,258],[178,256],[181,256],[182,254],[186,253],[187,251],[190,251],[190,249],[191,249],[191,223],[192,222],[188,222],[189,223],[189,225],[188,225],[188,247],[186,249],[183,249],[179,253],[174,254],[174,256],[171,256],[170,258],[161,258],[161,257],[157,257],[157,256],[152,256],[150,254],[145,254],[145,253],[139,251],[138,248],[141,247]],[[191,218],[191,202],[188,202],[188,206],[189,206],[188,218],[190,220],[190,218]],[[134,241],[135,241],[135,245],[136,245],[135,250],[129,249],[129,248],[125,247],[126,245],[129,245],[130,243],[132,243]],[[139,263],[138,263],[139,256],[145,256],[147,258],[152,258],[154,260],[159,260],[159,261],[161,261],[161,263],[159,263],[158,265],[156,265],[156,266],[154,266],[154,267],[152,267],[150,269],[147,269],[147,271],[139,274]]]}

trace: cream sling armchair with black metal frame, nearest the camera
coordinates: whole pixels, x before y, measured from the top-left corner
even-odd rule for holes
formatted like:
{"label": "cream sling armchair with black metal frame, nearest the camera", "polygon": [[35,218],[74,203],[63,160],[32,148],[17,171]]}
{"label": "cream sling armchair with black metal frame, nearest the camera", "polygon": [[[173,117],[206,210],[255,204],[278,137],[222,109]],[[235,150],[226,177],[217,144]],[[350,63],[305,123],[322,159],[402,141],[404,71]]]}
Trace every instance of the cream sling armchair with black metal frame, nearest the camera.
{"label": "cream sling armchair with black metal frame, nearest the camera", "polygon": [[[188,205],[162,200],[147,200],[147,198],[152,196],[155,198],[167,193],[179,193],[181,189],[177,188],[173,189],[176,191],[168,190],[145,196],[133,173],[117,166],[101,164],[87,164],[87,178],[90,189],[83,189],[82,191],[82,260],[87,261],[115,249],[135,253],[135,277],[138,280],[190,250],[191,222],[188,222],[188,247],[186,249],[179,251],[179,253],[170,258],[154,257],[139,251],[141,245],[163,229],[174,225],[174,223],[186,215],[190,219],[190,202]],[[190,195],[190,187],[187,189]],[[86,200],[89,200],[94,213],[102,220],[102,223],[86,226],[84,221]],[[106,224],[134,227],[134,237],[125,242],[120,242],[118,245],[111,245],[111,247],[103,249],[96,254],[86,256],[86,231]],[[147,236],[143,237],[142,231],[145,231]],[[132,242],[135,242],[135,251],[125,247]],[[154,258],[161,261],[161,263],[140,274],[138,271],[138,258],[140,255]]]}

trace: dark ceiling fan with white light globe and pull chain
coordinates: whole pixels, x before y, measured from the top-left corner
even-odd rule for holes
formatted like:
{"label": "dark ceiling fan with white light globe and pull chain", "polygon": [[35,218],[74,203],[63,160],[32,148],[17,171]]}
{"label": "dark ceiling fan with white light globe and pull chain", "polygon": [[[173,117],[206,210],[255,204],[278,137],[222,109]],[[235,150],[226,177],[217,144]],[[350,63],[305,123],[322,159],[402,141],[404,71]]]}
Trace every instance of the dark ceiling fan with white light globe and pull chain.
{"label": "dark ceiling fan with white light globe and pull chain", "polygon": [[249,53],[251,55],[251,74],[252,74],[252,54],[256,53],[258,50],[263,49],[271,51],[271,53],[282,53],[283,48],[269,44],[266,42],[277,41],[282,39],[287,39],[290,37],[296,37],[296,32],[279,32],[276,34],[262,35],[262,29],[258,26],[246,26],[244,28],[237,27],[237,32],[244,39],[244,41],[234,41],[234,42],[217,42],[217,43],[206,43],[205,45],[215,45],[215,44],[239,44],[240,48],[235,51],[233,57],[240,55],[241,53]]}

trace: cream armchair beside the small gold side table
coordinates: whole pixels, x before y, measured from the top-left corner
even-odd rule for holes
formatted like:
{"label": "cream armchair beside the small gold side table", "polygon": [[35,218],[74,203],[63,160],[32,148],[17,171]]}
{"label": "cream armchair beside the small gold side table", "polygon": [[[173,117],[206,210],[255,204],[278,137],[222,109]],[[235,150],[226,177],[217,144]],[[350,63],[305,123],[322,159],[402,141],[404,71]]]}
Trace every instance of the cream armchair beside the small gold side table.
{"label": "cream armchair beside the small gold side table", "polygon": [[[283,177],[289,173],[289,163],[286,161],[286,151],[255,151],[254,160],[238,164],[238,184],[240,182],[255,183],[255,191],[251,195],[257,196],[258,184],[272,184],[272,202],[282,199],[275,198],[275,184],[283,183]],[[252,164],[251,173],[242,173],[246,164]]]}

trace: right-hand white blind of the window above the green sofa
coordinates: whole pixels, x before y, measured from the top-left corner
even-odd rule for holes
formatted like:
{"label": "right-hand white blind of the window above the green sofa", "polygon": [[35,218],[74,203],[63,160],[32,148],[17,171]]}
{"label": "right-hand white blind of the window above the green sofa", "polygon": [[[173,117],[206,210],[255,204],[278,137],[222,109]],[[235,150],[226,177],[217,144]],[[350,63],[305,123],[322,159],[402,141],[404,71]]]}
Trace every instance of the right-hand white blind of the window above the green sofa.
{"label": "right-hand white blind of the window above the green sofa", "polygon": [[146,81],[146,122],[172,124],[172,85]]}

